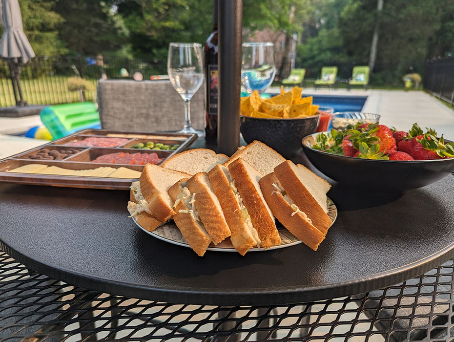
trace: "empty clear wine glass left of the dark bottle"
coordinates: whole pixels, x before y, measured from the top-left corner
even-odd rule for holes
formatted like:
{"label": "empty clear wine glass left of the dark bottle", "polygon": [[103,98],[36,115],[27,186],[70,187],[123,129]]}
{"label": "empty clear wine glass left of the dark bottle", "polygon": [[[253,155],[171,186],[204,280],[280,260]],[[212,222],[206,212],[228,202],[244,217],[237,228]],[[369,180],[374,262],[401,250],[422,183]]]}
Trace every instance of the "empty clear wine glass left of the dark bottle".
{"label": "empty clear wine glass left of the dark bottle", "polygon": [[204,80],[203,50],[199,43],[170,43],[167,57],[170,83],[185,101],[185,124],[178,133],[197,133],[191,124],[191,98]]}

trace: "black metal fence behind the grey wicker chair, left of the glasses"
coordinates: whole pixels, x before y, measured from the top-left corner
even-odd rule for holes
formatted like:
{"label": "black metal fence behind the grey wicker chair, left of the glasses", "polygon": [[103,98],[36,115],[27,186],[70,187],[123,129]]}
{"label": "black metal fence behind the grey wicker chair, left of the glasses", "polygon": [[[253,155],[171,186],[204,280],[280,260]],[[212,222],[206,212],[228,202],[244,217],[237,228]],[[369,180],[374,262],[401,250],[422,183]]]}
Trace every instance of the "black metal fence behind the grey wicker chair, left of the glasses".
{"label": "black metal fence behind the grey wicker chair, left of the glasses", "polygon": [[[164,72],[165,62],[161,61],[102,56],[35,57],[21,66],[21,89],[24,100],[29,104],[96,102],[96,85],[102,77],[132,78],[134,73],[140,73],[145,80]],[[8,64],[0,60],[0,107],[14,105]]]}

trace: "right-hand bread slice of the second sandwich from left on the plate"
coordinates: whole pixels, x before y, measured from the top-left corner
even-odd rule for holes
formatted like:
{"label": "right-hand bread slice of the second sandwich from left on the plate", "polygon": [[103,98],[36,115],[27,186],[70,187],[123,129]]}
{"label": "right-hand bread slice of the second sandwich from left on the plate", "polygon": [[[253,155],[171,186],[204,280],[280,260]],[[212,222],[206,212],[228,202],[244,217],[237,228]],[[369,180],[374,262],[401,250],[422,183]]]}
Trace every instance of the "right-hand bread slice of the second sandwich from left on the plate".
{"label": "right-hand bread slice of the second sandwich from left on the plate", "polygon": [[219,199],[213,192],[208,174],[196,173],[187,180],[186,187],[191,195],[194,195],[195,208],[213,244],[217,245],[230,236],[230,229]]}

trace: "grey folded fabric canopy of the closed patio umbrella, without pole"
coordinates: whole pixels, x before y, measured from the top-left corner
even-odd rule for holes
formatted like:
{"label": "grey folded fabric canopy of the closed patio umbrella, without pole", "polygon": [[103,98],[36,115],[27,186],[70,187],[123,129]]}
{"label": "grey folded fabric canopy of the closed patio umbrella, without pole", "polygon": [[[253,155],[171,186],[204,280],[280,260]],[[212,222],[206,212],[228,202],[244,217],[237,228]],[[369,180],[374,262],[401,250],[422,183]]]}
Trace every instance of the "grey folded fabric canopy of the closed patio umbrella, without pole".
{"label": "grey folded fabric canopy of the closed patio umbrella, without pole", "polygon": [[0,22],[4,32],[0,41],[0,57],[14,63],[27,63],[35,52],[23,33],[18,0],[0,0]]}

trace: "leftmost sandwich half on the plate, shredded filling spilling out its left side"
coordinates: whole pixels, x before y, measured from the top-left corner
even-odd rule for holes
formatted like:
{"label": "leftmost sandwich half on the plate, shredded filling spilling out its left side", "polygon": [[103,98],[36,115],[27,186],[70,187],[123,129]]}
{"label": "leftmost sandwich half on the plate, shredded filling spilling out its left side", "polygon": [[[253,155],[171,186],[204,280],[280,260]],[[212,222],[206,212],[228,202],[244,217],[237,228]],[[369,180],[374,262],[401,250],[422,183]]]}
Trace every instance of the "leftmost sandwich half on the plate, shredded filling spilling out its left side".
{"label": "leftmost sandwich half on the plate, shredded filling spilling out its left side", "polygon": [[[131,185],[130,197],[134,200],[128,202],[129,214],[141,221],[145,218],[154,217],[157,221],[148,221],[152,221],[157,226],[166,222],[175,214],[173,201],[168,190],[177,181],[187,177],[190,177],[190,175],[184,172],[146,164],[139,181],[133,182]],[[151,231],[156,227],[147,225],[144,228]]]}

